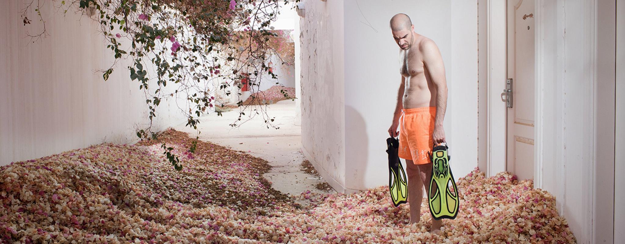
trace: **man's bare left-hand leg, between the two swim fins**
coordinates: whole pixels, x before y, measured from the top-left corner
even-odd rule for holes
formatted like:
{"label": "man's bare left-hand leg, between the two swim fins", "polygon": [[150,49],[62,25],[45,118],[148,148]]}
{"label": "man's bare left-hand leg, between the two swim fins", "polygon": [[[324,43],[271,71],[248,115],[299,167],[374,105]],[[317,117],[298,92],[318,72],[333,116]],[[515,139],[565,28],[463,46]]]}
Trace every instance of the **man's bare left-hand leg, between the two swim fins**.
{"label": "man's bare left-hand leg, between the two swim fins", "polygon": [[419,220],[421,220],[421,201],[423,200],[423,181],[421,180],[421,175],[419,175],[419,168],[412,160],[406,160],[406,171],[408,177],[410,223],[419,223]]}

